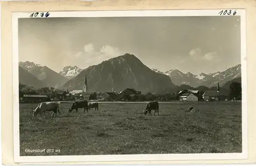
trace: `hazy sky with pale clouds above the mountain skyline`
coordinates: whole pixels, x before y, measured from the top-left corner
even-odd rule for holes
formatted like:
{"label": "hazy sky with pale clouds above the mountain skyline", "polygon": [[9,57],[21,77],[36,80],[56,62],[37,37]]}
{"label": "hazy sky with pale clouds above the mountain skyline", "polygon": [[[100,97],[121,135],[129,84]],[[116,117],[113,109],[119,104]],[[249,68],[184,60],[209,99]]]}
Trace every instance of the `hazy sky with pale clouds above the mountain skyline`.
{"label": "hazy sky with pale clouds above the mountain skyline", "polygon": [[214,73],[241,63],[240,16],[19,18],[19,61],[59,72],[134,54],[162,72]]}

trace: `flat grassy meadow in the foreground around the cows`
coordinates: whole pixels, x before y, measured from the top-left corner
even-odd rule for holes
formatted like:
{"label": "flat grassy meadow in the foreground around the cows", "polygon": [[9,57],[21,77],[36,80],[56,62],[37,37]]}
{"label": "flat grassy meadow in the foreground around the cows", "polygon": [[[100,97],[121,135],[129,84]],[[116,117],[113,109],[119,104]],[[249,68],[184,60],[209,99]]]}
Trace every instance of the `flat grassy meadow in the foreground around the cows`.
{"label": "flat grassy meadow in the foreground around the cows", "polygon": [[[159,116],[143,116],[145,105],[99,103],[68,116],[71,104],[60,104],[62,114],[39,120],[31,117],[37,104],[20,104],[20,156],[242,152],[241,103],[159,103]],[[200,111],[186,112],[190,105]]]}

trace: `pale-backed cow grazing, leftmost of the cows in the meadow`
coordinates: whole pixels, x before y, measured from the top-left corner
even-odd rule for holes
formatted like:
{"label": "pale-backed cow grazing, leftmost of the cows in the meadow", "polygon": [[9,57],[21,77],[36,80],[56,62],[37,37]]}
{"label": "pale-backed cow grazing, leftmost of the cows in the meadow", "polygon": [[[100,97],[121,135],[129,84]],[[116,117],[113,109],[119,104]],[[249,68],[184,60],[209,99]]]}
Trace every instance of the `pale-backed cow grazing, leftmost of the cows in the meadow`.
{"label": "pale-backed cow grazing, leftmost of the cows in the meadow", "polygon": [[45,117],[46,111],[49,111],[49,112],[53,111],[51,116],[54,115],[53,117],[55,117],[57,112],[59,112],[59,104],[60,104],[60,102],[42,102],[42,103],[38,104],[38,106],[35,108],[35,110],[33,110],[33,117],[38,115],[38,113],[40,113],[40,115],[42,115],[42,113],[44,113],[44,117]]}

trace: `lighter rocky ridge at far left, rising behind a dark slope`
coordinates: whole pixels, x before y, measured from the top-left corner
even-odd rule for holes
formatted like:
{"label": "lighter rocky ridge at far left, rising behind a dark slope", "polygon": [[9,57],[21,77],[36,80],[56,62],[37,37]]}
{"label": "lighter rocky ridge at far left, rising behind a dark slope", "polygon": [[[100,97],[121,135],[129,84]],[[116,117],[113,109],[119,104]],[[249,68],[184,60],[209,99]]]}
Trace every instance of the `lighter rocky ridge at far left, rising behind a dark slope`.
{"label": "lighter rocky ridge at far left, rising behind a dark slope", "polygon": [[19,66],[23,67],[30,74],[32,74],[37,79],[41,80],[47,86],[50,86],[50,87],[57,88],[68,81],[67,78],[54,72],[52,69],[48,68],[47,66],[41,66],[39,64],[35,64],[34,62],[29,62],[29,61],[19,62]]}

